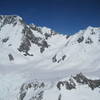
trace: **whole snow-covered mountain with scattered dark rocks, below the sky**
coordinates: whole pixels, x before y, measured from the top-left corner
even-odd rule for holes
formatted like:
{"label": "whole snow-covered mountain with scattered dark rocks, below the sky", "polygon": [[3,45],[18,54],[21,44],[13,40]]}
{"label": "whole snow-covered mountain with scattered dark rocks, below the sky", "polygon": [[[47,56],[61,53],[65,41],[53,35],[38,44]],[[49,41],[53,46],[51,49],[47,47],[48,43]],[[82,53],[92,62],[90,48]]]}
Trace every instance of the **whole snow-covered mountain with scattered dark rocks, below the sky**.
{"label": "whole snow-covered mountain with scattered dark rocks, below the sky", "polygon": [[1,15],[0,100],[99,100],[99,45],[99,27],[69,36]]}

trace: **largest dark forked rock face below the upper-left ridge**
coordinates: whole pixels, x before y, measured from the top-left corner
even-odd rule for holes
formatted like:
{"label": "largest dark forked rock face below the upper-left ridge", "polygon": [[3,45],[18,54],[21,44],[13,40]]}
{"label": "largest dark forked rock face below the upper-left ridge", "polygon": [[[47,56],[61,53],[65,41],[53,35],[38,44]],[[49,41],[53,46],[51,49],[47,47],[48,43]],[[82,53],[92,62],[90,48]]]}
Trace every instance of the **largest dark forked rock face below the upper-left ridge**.
{"label": "largest dark forked rock face below the upper-left ridge", "polygon": [[23,40],[22,40],[22,43],[21,43],[20,47],[18,48],[18,50],[20,52],[24,52],[25,53],[24,55],[33,56],[33,54],[28,53],[28,51],[30,50],[30,47],[31,47],[31,43],[39,46],[41,53],[43,53],[45,48],[49,47],[46,40],[42,39],[41,37],[34,36],[34,33],[31,31],[31,28],[28,27],[27,25],[24,26],[22,33],[23,33]]}

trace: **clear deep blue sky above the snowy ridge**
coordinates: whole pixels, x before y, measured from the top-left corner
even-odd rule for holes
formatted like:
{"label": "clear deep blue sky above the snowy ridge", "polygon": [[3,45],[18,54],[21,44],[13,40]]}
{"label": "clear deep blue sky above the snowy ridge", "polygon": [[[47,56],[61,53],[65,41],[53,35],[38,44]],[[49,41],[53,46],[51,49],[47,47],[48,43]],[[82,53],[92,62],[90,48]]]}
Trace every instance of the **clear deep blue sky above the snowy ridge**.
{"label": "clear deep blue sky above the snowy ridge", "polygon": [[22,16],[27,23],[60,33],[100,27],[100,0],[0,0],[0,14]]}

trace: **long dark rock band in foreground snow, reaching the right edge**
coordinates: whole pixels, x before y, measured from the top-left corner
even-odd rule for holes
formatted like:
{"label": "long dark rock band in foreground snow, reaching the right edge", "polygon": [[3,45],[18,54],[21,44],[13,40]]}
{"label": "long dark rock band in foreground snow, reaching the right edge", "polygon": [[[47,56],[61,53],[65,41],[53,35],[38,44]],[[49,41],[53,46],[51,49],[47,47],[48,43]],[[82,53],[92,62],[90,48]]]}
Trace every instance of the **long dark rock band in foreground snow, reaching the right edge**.
{"label": "long dark rock band in foreground snow, reaching the right edge", "polygon": [[81,85],[88,85],[92,90],[95,88],[100,88],[100,80],[91,80],[85,77],[82,73],[77,74],[76,76],[73,76],[68,81],[59,81],[57,83],[57,88],[61,90],[61,87],[65,86],[67,90],[75,89],[76,83]]}

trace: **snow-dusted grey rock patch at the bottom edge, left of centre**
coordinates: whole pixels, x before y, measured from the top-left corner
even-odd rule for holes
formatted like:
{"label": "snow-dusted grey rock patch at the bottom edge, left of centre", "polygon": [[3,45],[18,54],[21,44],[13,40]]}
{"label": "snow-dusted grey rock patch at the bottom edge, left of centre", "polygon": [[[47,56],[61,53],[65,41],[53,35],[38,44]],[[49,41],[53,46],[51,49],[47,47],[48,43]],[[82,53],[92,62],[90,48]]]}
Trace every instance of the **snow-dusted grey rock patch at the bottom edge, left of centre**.
{"label": "snow-dusted grey rock patch at the bottom edge, left of centre", "polygon": [[20,96],[18,100],[24,100],[25,96],[27,95],[27,92],[29,89],[33,89],[34,93],[39,90],[39,92],[30,98],[30,100],[42,100],[43,99],[43,88],[45,87],[45,84],[43,82],[30,82],[28,84],[23,84],[20,88]]}

